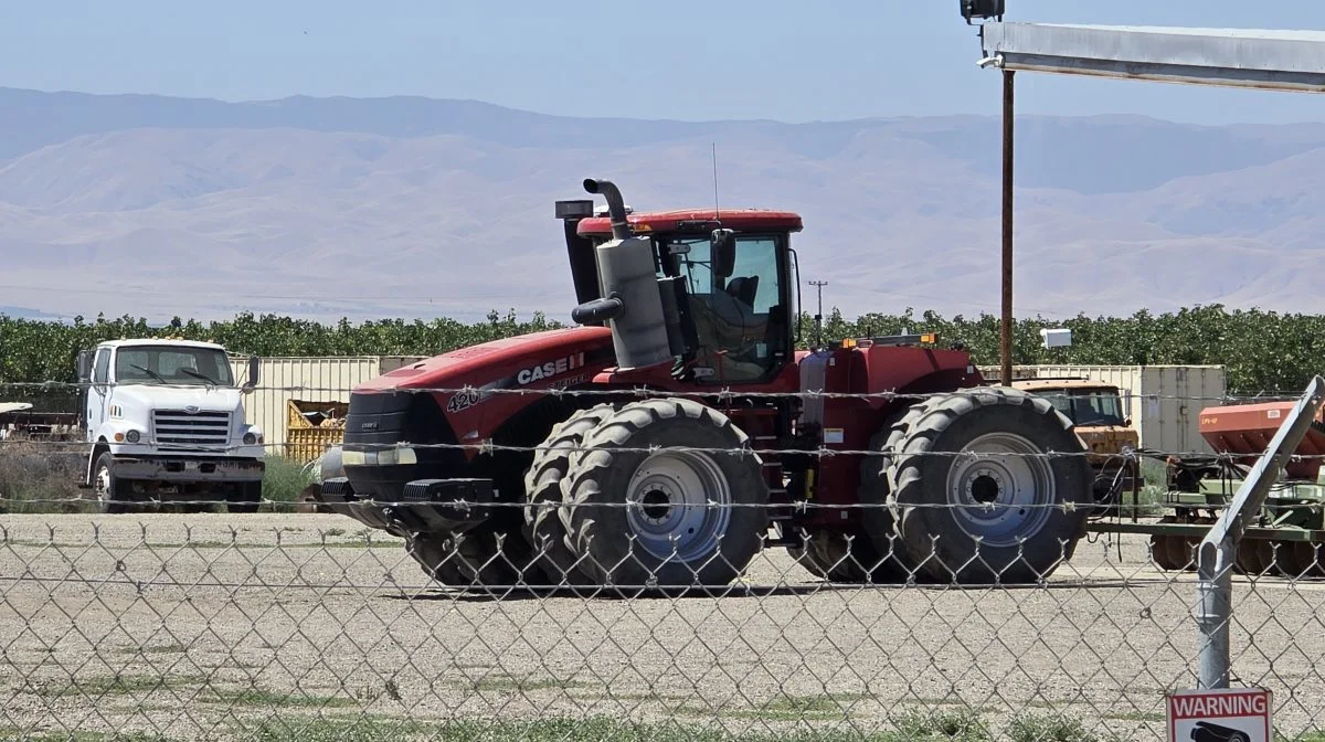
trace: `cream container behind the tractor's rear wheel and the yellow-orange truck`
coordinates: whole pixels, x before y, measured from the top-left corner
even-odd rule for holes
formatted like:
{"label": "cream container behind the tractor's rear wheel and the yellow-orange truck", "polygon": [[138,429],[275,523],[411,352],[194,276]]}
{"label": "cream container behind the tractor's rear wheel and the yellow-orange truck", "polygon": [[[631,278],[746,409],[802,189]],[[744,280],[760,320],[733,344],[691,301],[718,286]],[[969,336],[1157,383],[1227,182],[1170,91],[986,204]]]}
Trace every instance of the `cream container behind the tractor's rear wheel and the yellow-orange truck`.
{"label": "cream container behind the tractor's rear wheel and the yellow-orange truck", "polygon": [[[980,374],[998,379],[996,366]],[[1014,366],[1012,376],[1081,376],[1118,387],[1141,447],[1165,453],[1211,453],[1200,411],[1226,403],[1223,366]]]}

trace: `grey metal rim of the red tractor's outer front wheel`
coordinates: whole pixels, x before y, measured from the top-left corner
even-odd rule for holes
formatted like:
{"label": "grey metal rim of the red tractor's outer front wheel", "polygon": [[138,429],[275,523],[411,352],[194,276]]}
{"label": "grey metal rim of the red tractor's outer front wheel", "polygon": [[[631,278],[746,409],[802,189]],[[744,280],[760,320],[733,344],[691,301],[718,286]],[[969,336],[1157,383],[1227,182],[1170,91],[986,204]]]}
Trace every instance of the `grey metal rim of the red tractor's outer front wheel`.
{"label": "grey metal rim of the red tractor's outer front wheel", "polygon": [[625,493],[631,535],[659,559],[692,562],[716,550],[731,521],[731,489],[705,453],[655,453]]}

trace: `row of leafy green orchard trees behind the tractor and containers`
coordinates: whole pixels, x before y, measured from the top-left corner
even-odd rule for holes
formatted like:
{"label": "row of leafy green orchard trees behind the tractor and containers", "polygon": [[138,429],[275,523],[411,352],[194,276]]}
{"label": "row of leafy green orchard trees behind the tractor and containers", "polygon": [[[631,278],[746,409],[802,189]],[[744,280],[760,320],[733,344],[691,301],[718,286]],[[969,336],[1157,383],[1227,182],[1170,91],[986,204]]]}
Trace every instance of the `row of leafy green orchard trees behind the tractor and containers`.
{"label": "row of leafy green orchard trees behind the tractor and containers", "polygon": [[[245,313],[223,322],[174,319],[150,326],[146,319],[122,317],[72,323],[0,317],[0,401],[20,396],[3,384],[74,382],[80,350],[101,341],[143,337],[183,337],[215,341],[232,352],[261,356],[435,355],[456,347],[563,326],[542,314],[519,319],[489,313],[488,319],[382,319],[323,325],[306,319]],[[1072,346],[1044,348],[1040,329],[1072,330]],[[961,343],[977,363],[999,362],[998,317],[945,318],[933,311],[917,315],[865,314],[855,321],[833,310],[824,318],[822,335],[815,319],[800,317],[799,343],[836,342],[847,337],[938,333],[938,344]],[[1277,314],[1260,310],[1228,311],[1211,305],[1177,313],[1132,317],[1076,317],[1048,321],[1020,319],[1014,333],[1014,363],[1081,364],[1222,364],[1235,394],[1298,392],[1325,367],[1325,315]],[[21,395],[28,396],[28,395]]]}

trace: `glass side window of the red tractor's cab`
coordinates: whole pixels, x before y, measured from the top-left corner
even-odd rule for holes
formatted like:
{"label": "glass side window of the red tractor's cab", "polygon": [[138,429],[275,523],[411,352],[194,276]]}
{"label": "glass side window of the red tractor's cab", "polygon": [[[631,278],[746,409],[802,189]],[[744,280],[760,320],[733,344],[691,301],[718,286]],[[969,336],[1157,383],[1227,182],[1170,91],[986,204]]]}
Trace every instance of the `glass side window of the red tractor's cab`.
{"label": "glass side window of the red tractor's cab", "polygon": [[662,248],[660,272],[685,282],[700,380],[757,382],[775,372],[787,352],[779,238],[737,236],[730,276],[714,272],[708,236],[669,238]]}

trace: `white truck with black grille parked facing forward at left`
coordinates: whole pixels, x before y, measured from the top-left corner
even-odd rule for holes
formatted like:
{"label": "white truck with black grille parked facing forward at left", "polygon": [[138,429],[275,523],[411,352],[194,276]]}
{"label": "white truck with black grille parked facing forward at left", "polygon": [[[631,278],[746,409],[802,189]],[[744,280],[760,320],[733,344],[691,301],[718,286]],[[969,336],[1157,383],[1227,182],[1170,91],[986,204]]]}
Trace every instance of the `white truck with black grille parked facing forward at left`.
{"label": "white truck with black grille parked facing forward at left", "polygon": [[113,341],[78,354],[86,384],[82,411],[90,444],[83,486],[102,513],[131,513],[174,502],[253,513],[262,501],[264,437],[245,423],[231,358],[216,343],[178,339]]}

